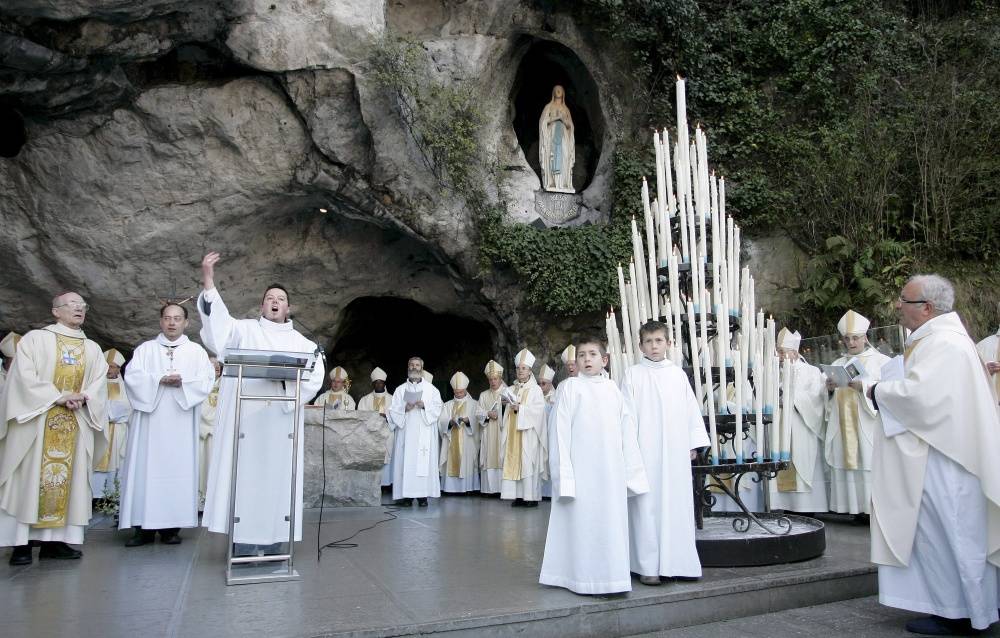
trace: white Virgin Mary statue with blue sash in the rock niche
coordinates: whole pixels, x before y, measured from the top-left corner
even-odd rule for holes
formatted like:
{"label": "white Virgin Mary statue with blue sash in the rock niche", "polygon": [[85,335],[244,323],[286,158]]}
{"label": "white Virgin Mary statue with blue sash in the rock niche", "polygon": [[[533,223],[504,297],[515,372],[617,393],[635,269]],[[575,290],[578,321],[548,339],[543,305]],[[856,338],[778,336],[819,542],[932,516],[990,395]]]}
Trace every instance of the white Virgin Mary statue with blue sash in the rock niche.
{"label": "white Virgin Mary statue with blue sash in the rock niche", "polygon": [[538,161],[542,168],[542,188],[554,193],[574,193],[573,164],[576,141],[573,116],[566,106],[566,91],[552,87],[552,100],[538,120]]}

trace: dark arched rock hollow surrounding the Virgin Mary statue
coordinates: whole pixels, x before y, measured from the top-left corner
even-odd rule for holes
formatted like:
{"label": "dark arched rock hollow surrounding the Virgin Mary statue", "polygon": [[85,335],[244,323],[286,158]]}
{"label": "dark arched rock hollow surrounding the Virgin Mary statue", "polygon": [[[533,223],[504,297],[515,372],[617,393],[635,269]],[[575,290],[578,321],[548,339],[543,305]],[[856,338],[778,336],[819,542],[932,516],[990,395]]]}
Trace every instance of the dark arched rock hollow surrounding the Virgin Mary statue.
{"label": "dark arched rock hollow surrounding the Virgin Mary statue", "polygon": [[566,105],[576,127],[576,163],[573,188],[580,192],[590,185],[601,156],[604,118],[597,84],[583,61],[557,42],[525,40],[526,47],[511,89],[514,132],[528,164],[542,177],[538,160],[538,118],[552,99],[556,84],[566,89]]}

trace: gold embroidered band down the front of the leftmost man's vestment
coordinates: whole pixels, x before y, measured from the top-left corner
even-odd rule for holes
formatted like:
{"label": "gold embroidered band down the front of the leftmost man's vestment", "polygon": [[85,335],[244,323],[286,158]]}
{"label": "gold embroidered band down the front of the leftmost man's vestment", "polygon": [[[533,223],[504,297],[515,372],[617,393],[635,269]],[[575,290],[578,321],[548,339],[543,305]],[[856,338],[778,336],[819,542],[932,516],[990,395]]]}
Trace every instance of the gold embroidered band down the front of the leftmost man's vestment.
{"label": "gold embroidered band down the front of the leftmost man's vestment", "polygon": [[[84,340],[56,334],[56,370],[52,383],[63,392],[79,392],[87,370]],[[42,467],[38,488],[38,529],[64,527],[79,426],[73,410],[52,406],[45,415]]]}

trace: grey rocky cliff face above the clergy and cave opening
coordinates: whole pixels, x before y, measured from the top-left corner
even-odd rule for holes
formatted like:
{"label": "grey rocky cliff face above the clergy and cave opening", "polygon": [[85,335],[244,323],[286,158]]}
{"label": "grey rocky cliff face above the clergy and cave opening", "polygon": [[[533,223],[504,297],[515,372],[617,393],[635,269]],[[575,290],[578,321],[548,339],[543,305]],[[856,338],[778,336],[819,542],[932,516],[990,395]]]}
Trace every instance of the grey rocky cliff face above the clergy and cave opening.
{"label": "grey rocky cliff face above the clergy and cave opening", "polygon": [[464,203],[442,195],[372,79],[387,35],[482,96],[481,141],[525,222],[539,184],[516,95],[539,81],[531,56],[564,59],[592,138],[573,223],[606,215],[623,80],[571,15],[514,1],[8,0],[0,329],[45,323],[51,295],[74,289],[93,306],[88,330],[128,348],[155,333],[158,299],[197,293],[214,249],[232,308],[252,313],[283,281],[329,346],[348,304],[383,296],[482,322],[490,356],[558,352],[516,287],[480,272]]}

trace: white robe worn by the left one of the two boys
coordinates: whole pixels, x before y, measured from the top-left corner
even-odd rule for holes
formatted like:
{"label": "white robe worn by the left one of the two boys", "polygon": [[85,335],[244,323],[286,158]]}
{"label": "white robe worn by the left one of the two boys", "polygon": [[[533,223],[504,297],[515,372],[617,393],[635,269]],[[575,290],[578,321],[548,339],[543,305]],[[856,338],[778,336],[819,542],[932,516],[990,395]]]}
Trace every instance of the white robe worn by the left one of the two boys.
{"label": "white robe worn by the left one of the two boys", "polygon": [[630,591],[630,494],[649,490],[635,420],[607,377],[569,377],[552,409],[552,509],[538,582],[578,594]]}

